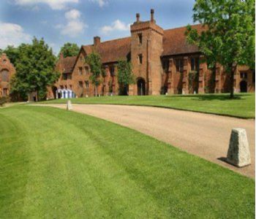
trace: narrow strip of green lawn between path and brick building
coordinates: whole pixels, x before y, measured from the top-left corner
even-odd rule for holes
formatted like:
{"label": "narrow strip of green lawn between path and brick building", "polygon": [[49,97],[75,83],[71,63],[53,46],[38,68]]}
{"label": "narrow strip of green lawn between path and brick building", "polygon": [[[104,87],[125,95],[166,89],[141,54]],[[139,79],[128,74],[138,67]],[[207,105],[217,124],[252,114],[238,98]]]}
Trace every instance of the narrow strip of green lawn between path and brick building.
{"label": "narrow strip of green lawn between path and brick building", "polygon": [[[65,103],[67,99],[44,101],[44,103]],[[178,110],[207,112],[238,118],[255,118],[255,93],[237,94],[229,99],[229,94],[204,94],[192,96],[102,96],[72,99],[74,104],[132,104],[167,107]]]}

